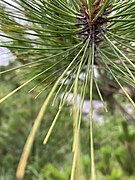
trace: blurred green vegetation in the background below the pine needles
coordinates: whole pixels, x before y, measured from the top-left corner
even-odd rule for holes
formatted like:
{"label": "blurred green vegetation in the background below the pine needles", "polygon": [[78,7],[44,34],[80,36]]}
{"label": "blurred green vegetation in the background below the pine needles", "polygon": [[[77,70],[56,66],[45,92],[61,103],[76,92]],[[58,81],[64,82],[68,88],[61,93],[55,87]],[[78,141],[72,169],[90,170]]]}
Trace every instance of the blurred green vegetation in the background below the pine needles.
{"label": "blurred green vegetation in the background below the pine needles", "polygon": [[[14,66],[14,61],[8,66]],[[0,70],[7,69],[6,66]],[[0,97],[19,86],[17,71],[0,76]],[[0,180],[14,180],[17,164],[32,127],[33,121],[43,103],[43,93],[36,100],[34,93],[28,93],[25,87],[0,106]],[[96,96],[95,96],[96,97]],[[125,107],[132,106],[123,96],[116,99]],[[118,107],[111,102],[108,113],[100,109],[94,121],[95,164],[98,179],[135,179],[135,127],[131,119],[126,119]],[[113,110],[112,110],[113,109]],[[70,176],[72,162],[72,117],[67,105],[58,119],[47,145],[43,139],[47,133],[57,107],[48,106],[32,149],[25,179],[67,180]],[[90,178],[89,127],[86,116],[81,128],[82,170],[84,179]]]}

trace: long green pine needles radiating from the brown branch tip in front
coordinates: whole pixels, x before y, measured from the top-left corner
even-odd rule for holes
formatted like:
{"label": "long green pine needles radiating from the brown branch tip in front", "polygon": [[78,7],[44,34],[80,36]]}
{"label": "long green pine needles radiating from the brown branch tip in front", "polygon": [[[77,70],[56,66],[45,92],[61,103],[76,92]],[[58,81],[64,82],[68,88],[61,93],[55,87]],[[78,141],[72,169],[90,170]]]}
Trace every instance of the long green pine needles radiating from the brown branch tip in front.
{"label": "long green pine needles radiating from the brown branch tip in front", "polygon": [[[54,105],[60,94],[58,112],[45,137],[47,143],[68,94],[73,92],[73,164],[71,179],[80,171],[82,107],[89,87],[91,176],[95,179],[92,132],[92,97],[102,96],[104,80],[121,88],[133,106],[127,86],[135,87],[135,1],[134,0],[0,0],[0,42],[16,56],[21,85],[1,98],[0,103],[24,86],[35,83],[29,92],[36,98],[50,89],[30,132],[17,177],[22,178],[30,150],[48,103]],[[98,76],[97,76],[98,74]],[[116,85],[117,84],[117,85]],[[118,88],[119,86],[119,88]],[[77,104],[77,94],[81,102]]]}

